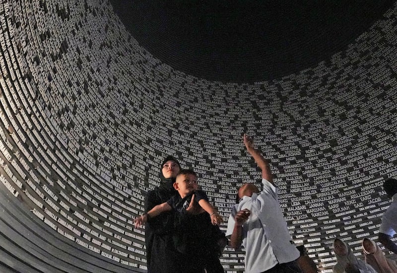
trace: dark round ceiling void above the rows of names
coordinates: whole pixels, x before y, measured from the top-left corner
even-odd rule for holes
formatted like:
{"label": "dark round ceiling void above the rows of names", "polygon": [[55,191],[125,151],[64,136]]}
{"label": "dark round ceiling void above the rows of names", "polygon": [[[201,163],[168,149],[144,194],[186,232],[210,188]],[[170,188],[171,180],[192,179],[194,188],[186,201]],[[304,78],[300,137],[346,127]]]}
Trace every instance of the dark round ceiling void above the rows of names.
{"label": "dark round ceiling void above the rows of names", "polygon": [[344,50],[394,0],[110,0],[132,36],[176,70],[222,82],[280,78]]}

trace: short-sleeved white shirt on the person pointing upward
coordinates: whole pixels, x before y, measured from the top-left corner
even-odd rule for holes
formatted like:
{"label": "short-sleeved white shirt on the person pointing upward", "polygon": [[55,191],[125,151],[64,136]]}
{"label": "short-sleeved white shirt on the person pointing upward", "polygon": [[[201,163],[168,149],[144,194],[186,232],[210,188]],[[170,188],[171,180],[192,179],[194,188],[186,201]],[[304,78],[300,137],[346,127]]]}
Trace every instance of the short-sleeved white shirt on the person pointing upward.
{"label": "short-sleeved white shirt on the person pointing upward", "polygon": [[291,235],[280,210],[277,188],[264,178],[262,183],[261,193],[244,196],[239,204],[234,205],[227,223],[226,236],[231,236],[237,212],[250,210],[251,215],[243,224],[246,273],[261,273],[299,257],[299,251],[291,244]]}

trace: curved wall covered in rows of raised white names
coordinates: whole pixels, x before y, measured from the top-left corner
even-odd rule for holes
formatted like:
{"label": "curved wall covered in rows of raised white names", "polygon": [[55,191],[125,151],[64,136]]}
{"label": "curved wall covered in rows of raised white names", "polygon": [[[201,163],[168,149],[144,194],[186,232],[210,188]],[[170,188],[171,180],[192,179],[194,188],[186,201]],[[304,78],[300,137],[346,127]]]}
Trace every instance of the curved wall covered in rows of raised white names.
{"label": "curved wall covered in rows of raised white names", "polygon": [[[330,61],[235,84],[153,58],[107,2],[2,0],[2,270],[145,272],[132,218],[161,160],[193,167],[227,218],[236,187],[260,182],[243,132],[270,159],[291,235],[319,269],[330,272],[335,237],[361,253],[397,174],[396,17]],[[227,248],[222,263],[240,272],[243,259]]]}

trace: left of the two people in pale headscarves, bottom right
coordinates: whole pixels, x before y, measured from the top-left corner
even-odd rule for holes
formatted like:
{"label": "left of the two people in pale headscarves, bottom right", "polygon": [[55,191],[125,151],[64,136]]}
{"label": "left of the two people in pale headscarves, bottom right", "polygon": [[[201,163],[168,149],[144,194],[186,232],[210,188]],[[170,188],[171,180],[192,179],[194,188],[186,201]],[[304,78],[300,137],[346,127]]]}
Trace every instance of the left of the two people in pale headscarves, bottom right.
{"label": "left of the two people in pale headscarves, bottom right", "polygon": [[336,238],[332,246],[336,257],[333,273],[377,273],[370,265],[357,259],[341,239]]}

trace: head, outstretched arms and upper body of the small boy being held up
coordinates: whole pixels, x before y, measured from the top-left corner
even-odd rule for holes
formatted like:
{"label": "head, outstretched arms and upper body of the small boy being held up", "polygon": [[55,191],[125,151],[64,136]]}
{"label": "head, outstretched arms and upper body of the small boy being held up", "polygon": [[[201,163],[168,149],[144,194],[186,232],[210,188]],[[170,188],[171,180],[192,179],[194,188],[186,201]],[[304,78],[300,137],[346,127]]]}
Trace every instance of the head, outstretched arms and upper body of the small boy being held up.
{"label": "head, outstretched arms and upper body of the small boy being held up", "polygon": [[189,204],[192,200],[199,203],[201,207],[201,212],[199,213],[203,213],[205,211],[209,214],[212,224],[215,225],[223,222],[223,219],[217,210],[211,205],[211,203],[209,203],[205,192],[198,190],[197,176],[193,170],[181,170],[177,175],[174,188],[178,191],[179,196],[174,195],[167,202],[157,205],[146,214],[135,218],[135,228],[138,228],[147,222],[148,218],[156,217],[163,212],[175,210],[178,213],[183,213],[184,210],[189,207]]}

